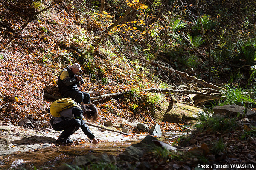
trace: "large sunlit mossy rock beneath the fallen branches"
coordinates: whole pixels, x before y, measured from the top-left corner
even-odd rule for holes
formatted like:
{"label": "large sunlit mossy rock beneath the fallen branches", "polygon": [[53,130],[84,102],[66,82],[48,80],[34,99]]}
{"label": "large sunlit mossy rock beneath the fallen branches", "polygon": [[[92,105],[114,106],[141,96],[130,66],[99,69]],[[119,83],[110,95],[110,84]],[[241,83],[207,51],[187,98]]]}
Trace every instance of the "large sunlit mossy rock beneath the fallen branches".
{"label": "large sunlit mossy rock beneath the fallen branches", "polygon": [[151,114],[157,122],[170,122],[170,123],[189,123],[190,121],[197,120],[200,113],[203,113],[203,109],[185,105],[181,103],[162,103],[160,107],[154,111],[151,110]]}

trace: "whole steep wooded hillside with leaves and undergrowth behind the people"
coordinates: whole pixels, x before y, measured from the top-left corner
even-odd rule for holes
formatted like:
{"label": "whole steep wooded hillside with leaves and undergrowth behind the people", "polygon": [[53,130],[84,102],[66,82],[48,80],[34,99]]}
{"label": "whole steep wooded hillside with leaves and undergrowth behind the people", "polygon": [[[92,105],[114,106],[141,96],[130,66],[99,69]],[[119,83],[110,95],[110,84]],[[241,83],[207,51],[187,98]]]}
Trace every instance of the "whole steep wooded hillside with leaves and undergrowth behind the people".
{"label": "whole steep wooded hillside with leaves and undergrowth behind the people", "polygon": [[[62,68],[74,62],[82,65],[86,83],[81,88],[89,92],[92,97],[127,92],[123,97],[102,99],[96,103],[102,118],[98,123],[111,120],[113,117],[115,119],[122,117],[152,124],[154,121],[148,114],[150,103],[143,89],[196,84],[160,67],[153,65],[145,67],[145,63],[158,53],[159,56],[155,61],[165,68],[173,67],[186,71],[192,67],[195,70],[193,75],[196,72],[201,79],[208,77],[206,43],[195,49],[181,33],[192,30],[193,25],[196,25],[192,23],[197,15],[194,1],[178,2],[174,7],[167,2],[162,5],[160,1],[147,1],[143,5],[129,1],[110,1],[105,3],[105,11],[100,12],[101,5],[97,1],[64,0],[47,11],[39,12],[54,2],[53,0],[0,0],[0,105],[11,102],[1,108],[2,123],[17,123],[20,118],[28,115],[32,115],[35,120],[49,121],[47,109],[52,101],[47,100],[44,94],[60,96],[56,87],[58,74]],[[242,32],[239,33],[241,37],[248,35],[253,38],[252,31],[247,28],[255,29],[255,18],[251,17],[255,15],[255,10],[251,10],[246,19],[249,23],[241,26],[241,23],[245,22],[241,15],[247,14],[247,2],[230,0],[200,3],[202,3],[200,4],[202,15],[212,15],[211,18],[217,17],[221,20],[218,29],[206,30],[209,38],[212,38],[213,34],[216,37],[223,37],[221,39],[230,38],[236,35],[236,32]],[[223,4],[226,8],[216,3]],[[251,2],[249,6],[253,6],[253,3]],[[239,14],[232,11],[234,7],[240,5],[242,6],[241,10],[238,10]],[[116,27],[109,29],[130,9],[132,12],[127,17],[123,18]],[[172,9],[174,13],[170,17],[173,21],[170,24],[171,31],[166,35],[161,47],[159,45],[168,18],[167,13],[161,11],[172,11]],[[229,17],[227,13],[235,16],[234,20],[231,21],[232,16]],[[186,21],[185,18],[191,20]],[[240,24],[244,29],[228,34],[229,30],[236,30],[234,27],[230,28],[232,23]],[[229,30],[226,29],[226,25]],[[223,46],[220,46],[221,43],[218,44],[219,39],[212,39],[212,42],[212,47],[215,49],[226,47],[225,44],[222,44]],[[232,50],[237,52],[236,49]],[[238,61],[242,64],[246,63],[239,58]],[[214,75],[209,81],[227,83],[225,76],[232,74],[230,70],[237,70],[237,67],[227,68],[230,63],[223,63],[222,60],[213,62]],[[233,64],[233,61],[231,63]],[[219,68],[215,68],[216,66]],[[250,77],[248,70],[250,67],[242,70],[246,78]],[[244,82],[247,83],[248,79]],[[166,94],[167,100],[170,95]],[[142,98],[136,101],[135,98],[138,96]],[[176,97],[183,101],[180,94]]]}

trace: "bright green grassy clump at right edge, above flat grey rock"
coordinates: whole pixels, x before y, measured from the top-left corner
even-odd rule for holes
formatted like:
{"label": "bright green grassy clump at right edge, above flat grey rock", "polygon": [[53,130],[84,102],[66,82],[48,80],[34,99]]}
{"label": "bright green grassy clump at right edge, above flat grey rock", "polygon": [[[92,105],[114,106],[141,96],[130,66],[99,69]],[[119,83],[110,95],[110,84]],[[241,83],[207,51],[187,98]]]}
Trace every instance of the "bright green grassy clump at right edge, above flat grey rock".
{"label": "bright green grassy clump at right edge, above flat grey rock", "polygon": [[223,91],[224,94],[219,100],[220,106],[232,105],[232,104],[240,105],[240,106],[244,106],[244,105],[253,106],[256,104],[254,99],[252,99],[254,94],[249,93],[250,91],[248,90],[243,90],[241,88],[241,85],[239,85],[238,87],[230,87],[229,85],[227,85],[226,89],[227,90]]}

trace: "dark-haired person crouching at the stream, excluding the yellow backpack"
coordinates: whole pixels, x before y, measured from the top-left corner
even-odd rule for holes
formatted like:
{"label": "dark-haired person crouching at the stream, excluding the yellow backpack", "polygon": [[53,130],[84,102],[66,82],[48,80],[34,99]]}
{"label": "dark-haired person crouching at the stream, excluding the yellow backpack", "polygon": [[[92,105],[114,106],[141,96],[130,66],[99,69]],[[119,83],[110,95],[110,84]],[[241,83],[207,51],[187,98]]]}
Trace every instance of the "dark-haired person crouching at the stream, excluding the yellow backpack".
{"label": "dark-haired person crouching at the stream, excluding the yellow backpack", "polygon": [[[78,104],[78,103],[77,103]],[[78,104],[79,105],[79,104]],[[59,135],[59,141],[65,144],[74,144],[73,140],[69,137],[75,131],[81,128],[85,135],[87,135],[93,144],[97,144],[98,141],[91,133],[89,127],[85,124],[83,116],[86,119],[91,119],[95,122],[98,118],[98,110],[94,104],[81,104],[81,108],[73,106],[59,112],[60,117],[53,117],[50,120],[50,124],[55,131],[62,131]]]}

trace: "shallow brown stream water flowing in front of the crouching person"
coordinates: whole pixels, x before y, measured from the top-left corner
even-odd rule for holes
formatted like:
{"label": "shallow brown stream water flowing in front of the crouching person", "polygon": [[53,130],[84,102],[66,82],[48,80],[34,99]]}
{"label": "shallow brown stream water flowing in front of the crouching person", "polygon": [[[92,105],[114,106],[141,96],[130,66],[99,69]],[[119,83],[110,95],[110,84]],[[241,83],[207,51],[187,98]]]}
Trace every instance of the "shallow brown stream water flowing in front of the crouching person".
{"label": "shallow brown stream water flowing in front of the crouching person", "polygon": [[[158,140],[165,143],[172,143],[181,135],[188,135],[187,133],[165,133],[158,137]],[[87,153],[93,153],[98,156],[103,153],[107,155],[117,156],[122,153],[126,147],[131,144],[139,143],[140,140],[125,141],[125,142],[100,142],[97,145],[92,143],[83,143],[71,146],[52,146],[40,150],[34,150],[31,152],[15,153],[8,156],[3,156],[0,161],[0,169],[55,169],[59,165],[65,163],[73,163],[74,159],[78,156],[86,155]]]}

